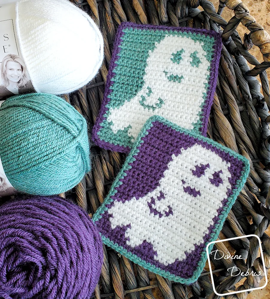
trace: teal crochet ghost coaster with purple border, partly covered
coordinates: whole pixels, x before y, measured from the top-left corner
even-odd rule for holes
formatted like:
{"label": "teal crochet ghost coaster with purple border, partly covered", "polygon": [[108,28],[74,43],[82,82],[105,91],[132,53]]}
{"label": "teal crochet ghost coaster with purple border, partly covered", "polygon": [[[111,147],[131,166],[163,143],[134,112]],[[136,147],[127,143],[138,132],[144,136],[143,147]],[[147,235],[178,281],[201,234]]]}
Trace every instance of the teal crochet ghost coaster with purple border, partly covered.
{"label": "teal crochet ghost coaster with purple border, partly covered", "polygon": [[214,31],[122,23],[93,141],[128,153],[153,115],[206,136],[221,47]]}

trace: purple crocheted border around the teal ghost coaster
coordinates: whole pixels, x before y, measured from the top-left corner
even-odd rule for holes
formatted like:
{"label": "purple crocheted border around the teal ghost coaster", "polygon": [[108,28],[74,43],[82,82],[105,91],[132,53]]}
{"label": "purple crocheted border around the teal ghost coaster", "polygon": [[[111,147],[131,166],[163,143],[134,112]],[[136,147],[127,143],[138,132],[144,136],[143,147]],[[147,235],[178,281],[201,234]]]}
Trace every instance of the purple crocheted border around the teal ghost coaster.
{"label": "purple crocheted border around the teal ghost coaster", "polygon": [[213,103],[213,97],[216,90],[216,82],[218,77],[218,68],[219,68],[219,60],[221,55],[221,49],[222,49],[222,39],[219,33],[213,31],[213,30],[206,30],[206,29],[197,29],[197,28],[189,28],[189,27],[169,27],[169,26],[158,26],[158,25],[140,25],[140,24],[134,24],[131,22],[122,22],[117,30],[116,36],[115,36],[115,42],[113,47],[113,54],[111,58],[111,63],[107,75],[106,80],[106,86],[105,86],[105,92],[104,92],[104,99],[101,104],[101,108],[98,114],[98,118],[96,119],[95,125],[92,130],[92,140],[96,145],[98,145],[101,148],[109,149],[116,152],[124,152],[129,153],[130,147],[124,147],[120,145],[111,144],[109,142],[105,142],[104,140],[101,140],[98,136],[98,131],[101,129],[101,123],[106,119],[104,115],[106,114],[108,108],[106,107],[107,104],[110,102],[110,98],[108,95],[111,93],[110,87],[113,85],[114,81],[111,79],[114,77],[113,70],[116,68],[116,58],[117,55],[120,53],[121,48],[119,45],[122,42],[122,36],[124,36],[123,30],[125,28],[139,28],[139,29],[153,29],[153,30],[176,30],[176,31],[186,31],[186,32],[192,32],[192,33],[205,33],[208,36],[214,37],[216,39],[216,42],[214,43],[214,54],[213,54],[213,60],[211,61],[211,67],[210,67],[210,78],[209,78],[209,91],[207,92],[207,98],[204,103],[204,107],[202,109],[203,111],[203,118],[202,118],[202,127],[200,129],[201,134],[206,136],[207,132],[207,123],[208,118],[210,115],[211,106]]}

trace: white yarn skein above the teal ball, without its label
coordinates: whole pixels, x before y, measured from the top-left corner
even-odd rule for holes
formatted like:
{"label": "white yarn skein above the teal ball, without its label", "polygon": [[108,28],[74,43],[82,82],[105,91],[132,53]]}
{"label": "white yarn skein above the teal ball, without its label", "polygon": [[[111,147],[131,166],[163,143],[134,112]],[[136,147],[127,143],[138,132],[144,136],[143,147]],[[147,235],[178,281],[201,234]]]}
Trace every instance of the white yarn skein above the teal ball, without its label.
{"label": "white yarn skein above the teal ball, without its label", "polygon": [[101,67],[101,32],[68,0],[19,1],[15,23],[22,58],[37,92],[75,91]]}

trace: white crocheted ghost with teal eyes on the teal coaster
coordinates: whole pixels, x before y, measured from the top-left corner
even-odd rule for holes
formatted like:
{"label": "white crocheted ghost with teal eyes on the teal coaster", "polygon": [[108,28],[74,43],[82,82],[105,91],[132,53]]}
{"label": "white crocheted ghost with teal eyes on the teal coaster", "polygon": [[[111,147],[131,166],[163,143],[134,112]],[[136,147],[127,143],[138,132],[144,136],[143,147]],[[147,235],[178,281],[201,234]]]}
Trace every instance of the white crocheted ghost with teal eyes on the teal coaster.
{"label": "white crocheted ghost with teal eyes on the teal coaster", "polygon": [[203,42],[176,35],[166,35],[156,42],[154,50],[149,50],[142,89],[123,106],[109,109],[107,120],[112,121],[113,132],[130,127],[128,135],[134,141],[153,115],[193,129],[209,76],[210,62],[202,45]]}

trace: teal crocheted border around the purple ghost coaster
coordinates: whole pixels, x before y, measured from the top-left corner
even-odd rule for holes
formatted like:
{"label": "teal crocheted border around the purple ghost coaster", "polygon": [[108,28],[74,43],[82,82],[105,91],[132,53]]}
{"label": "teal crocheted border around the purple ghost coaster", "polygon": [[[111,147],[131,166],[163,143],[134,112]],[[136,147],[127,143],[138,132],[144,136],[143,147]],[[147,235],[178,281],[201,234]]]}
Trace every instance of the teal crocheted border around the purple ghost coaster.
{"label": "teal crocheted border around the purple ghost coaster", "polygon": [[[215,146],[216,148],[221,149],[226,153],[229,153],[231,156],[238,158],[245,165],[244,169],[242,170],[240,179],[237,180],[237,182],[236,182],[236,186],[238,185],[238,187],[236,189],[234,189],[233,194],[230,197],[228,197],[228,205],[227,205],[227,207],[225,207],[222,210],[221,215],[219,216],[219,222],[215,225],[215,229],[214,229],[213,233],[210,234],[211,239],[209,242],[207,242],[205,244],[207,246],[208,243],[210,243],[212,241],[216,241],[216,239],[219,235],[219,232],[221,231],[222,226],[225,222],[225,219],[227,218],[228,213],[230,212],[230,209],[232,208],[232,206],[236,200],[236,197],[238,196],[238,194],[244,187],[244,184],[248,177],[249,169],[250,169],[249,161],[242,155],[237,154],[236,152],[232,151],[231,149],[229,149],[227,147],[224,147],[223,145],[217,143],[216,141],[213,141],[207,137],[204,137],[202,135],[199,135],[199,134],[189,131],[187,129],[183,129],[180,126],[170,122],[169,120],[166,120],[165,118],[163,118],[161,116],[157,116],[157,115],[152,116],[145,123],[144,127],[142,128],[142,131],[139,133],[136,141],[134,142],[134,146],[133,146],[131,152],[129,153],[128,157],[126,158],[126,161],[125,161],[122,169],[116,176],[116,179],[112,184],[109,194],[106,196],[104,202],[102,203],[102,205],[98,208],[98,210],[94,214],[92,220],[93,220],[93,222],[97,221],[98,219],[100,219],[102,217],[102,214],[108,210],[106,205],[109,204],[110,202],[113,202],[113,199],[111,197],[116,194],[116,192],[117,192],[116,188],[122,184],[120,179],[123,179],[127,175],[126,171],[132,167],[130,164],[132,164],[136,160],[136,158],[134,156],[136,156],[138,154],[139,147],[143,143],[143,141],[141,139],[148,134],[147,130],[153,126],[154,121],[159,121],[159,122],[165,124],[166,126],[169,126],[172,129],[176,130],[177,132],[185,133],[194,138],[198,138],[199,140],[205,141],[208,144],[211,144],[211,145]],[[194,283],[196,280],[198,280],[199,276],[201,275],[201,272],[203,271],[206,260],[207,260],[207,252],[206,252],[206,250],[204,250],[201,254],[201,259],[198,262],[198,267],[197,267],[196,271],[194,271],[191,278],[186,279],[186,278],[181,278],[179,276],[171,274],[169,271],[162,270],[162,269],[152,265],[151,263],[147,263],[145,260],[142,260],[141,258],[137,257],[135,254],[128,252],[125,248],[123,248],[122,246],[119,246],[117,243],[111,241],[109,238],[104,237],[102,234],[101,234],[101,239],[105,245],[111,247],[115,251],[118,251],[120,254],[124,255],[125,257],[127,257],[134,263],[138,264],[139,266],[142,266],[151,272],[159,274],[160,276],[168,278],[169,280],[173,280],[175,282],[179,282],[179,283],[183,283],[183,284],[191,284],[191,283]],[[213,246],[214,246],[214,244],[211,244],[209,246],[208,250],[211,251],[213,249]]]}

